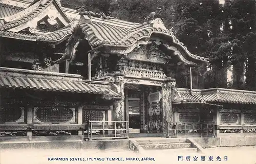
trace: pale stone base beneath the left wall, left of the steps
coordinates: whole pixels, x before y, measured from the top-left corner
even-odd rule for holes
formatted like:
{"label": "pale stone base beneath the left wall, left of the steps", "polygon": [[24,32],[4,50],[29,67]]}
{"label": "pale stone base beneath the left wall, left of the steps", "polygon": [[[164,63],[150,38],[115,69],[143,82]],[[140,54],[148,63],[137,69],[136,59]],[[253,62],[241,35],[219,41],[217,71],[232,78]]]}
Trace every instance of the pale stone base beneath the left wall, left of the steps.
{"label": "pale stone base beneath the left wall, left of the steps", "polygon": [[129,150],[129,140],[93,140],[83,141],[80,136],[39,136],[32,137],[5,137],[0,138],[0,150],[2,149],[122,149]]}

